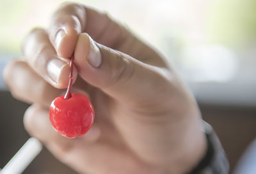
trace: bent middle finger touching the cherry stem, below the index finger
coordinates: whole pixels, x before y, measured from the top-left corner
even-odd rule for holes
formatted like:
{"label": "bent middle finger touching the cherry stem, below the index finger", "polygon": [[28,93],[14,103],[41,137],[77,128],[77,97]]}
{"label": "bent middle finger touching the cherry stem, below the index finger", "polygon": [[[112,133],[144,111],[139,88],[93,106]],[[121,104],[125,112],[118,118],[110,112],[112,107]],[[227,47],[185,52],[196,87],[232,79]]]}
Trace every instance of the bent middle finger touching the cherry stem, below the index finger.
{"label": "bent middle finger touching the cherry stem, below the index finger", "polygon": [[[56,55],[44,29],[34,29],[26,36],[22,50],[29,66],[47,82],[63,89],[68,85],[69,61]],[[74,82],[77,71],[74,68]]]}

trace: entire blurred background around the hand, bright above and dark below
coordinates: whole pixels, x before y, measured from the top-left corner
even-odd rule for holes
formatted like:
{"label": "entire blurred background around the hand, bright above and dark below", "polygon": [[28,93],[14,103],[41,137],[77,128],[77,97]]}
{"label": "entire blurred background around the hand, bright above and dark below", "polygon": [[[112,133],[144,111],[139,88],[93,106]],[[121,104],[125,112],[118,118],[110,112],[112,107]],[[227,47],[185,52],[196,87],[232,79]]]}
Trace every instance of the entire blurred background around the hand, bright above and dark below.
{"label": "entire blurred background around the hand, bright above and dark below", "polygon": [[[106,11],[165,55],[195,95],[204,119],[218,133],[230,173],[256,171],[248,170],[256,161],[256,143],[252,143],[256,138],[255,0],[74,2]],[[1,74],[6,62],[21,55],[20,43],[29,29],[47,27],[60,3],[63,1],[0,0]],[[29,137],[22,125],[28,105],[12,98],[2,75],[0,88],[3,168]],[[24,173],[75,172],[44,149]]]}

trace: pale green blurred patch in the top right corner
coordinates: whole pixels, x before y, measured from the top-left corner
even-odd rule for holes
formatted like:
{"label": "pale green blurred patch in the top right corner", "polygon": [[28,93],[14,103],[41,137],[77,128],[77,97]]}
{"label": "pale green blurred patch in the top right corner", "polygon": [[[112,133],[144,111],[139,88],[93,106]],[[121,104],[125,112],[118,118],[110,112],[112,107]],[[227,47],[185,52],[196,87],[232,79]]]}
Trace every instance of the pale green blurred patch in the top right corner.
{"label": "pale green blurred patch in the top right corner", "polygon": [[256,1],[216,0],[207,20],[209,41],[242,46],[256,41]]}

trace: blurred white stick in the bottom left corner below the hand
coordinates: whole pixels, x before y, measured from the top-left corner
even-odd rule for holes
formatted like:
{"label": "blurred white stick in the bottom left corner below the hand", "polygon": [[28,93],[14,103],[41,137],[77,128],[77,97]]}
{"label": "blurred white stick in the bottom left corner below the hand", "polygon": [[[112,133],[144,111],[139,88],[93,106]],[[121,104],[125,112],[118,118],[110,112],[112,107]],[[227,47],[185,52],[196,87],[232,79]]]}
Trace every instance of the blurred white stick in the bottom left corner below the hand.
{"label": "blurred white stick in the bottom left corner below the hand", "polygon": [[0,174],[20,174],[43,149],[36,138],[29,138],[12,159],[0,170]]}

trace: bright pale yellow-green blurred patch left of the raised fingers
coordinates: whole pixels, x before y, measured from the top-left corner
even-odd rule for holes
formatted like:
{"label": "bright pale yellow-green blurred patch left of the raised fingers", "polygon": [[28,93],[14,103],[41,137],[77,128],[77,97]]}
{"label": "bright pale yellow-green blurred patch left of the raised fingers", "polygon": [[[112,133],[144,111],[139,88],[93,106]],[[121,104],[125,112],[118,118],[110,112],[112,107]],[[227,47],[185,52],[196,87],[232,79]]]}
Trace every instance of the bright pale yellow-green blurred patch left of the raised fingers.
{"label": "bright pale yellow-green blurred patch left of the raised fingers", "polygon": [[[75,0],[90,2],[92,0]],[[62,0],[0,0],[0,54],[20,54],[24,36],[35,26],[45,27]]]}

